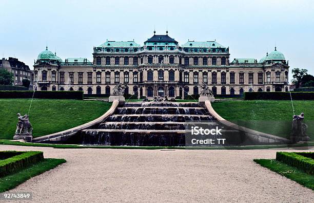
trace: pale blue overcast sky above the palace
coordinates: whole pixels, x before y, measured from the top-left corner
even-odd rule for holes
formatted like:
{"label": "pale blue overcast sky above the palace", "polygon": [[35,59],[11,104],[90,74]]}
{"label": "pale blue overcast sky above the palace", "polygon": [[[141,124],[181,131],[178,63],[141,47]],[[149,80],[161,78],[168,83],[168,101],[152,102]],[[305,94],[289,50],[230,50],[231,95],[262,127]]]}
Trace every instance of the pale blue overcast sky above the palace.
{"label": "pale blue overcast sky above the palace", "polygon": [[[33,69],[45,49],[92,61],[93,46],[153,35],[184,44],[216,40],[233,58],[260,60],[276,44],[292,67],[314,74],[314,1],[0,1],[0,54]],[[291,77],[290,77],[291,79]]]}

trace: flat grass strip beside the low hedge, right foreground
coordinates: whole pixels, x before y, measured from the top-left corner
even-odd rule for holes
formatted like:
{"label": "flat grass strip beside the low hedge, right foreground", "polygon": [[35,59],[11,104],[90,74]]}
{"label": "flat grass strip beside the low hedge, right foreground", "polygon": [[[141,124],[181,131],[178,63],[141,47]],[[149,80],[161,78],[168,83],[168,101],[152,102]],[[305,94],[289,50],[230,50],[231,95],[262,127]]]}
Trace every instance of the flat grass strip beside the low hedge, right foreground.
{"label": "flat grass strip beside the low hedge, right foreground", "polygon": [[274,159],[254,159],[254,161],[261,164],[263,167],[270,169],[271,171],[279,173],[280,175],[302,184],[302,186],[314,190],[313,175],[307,174],[304,171]]}

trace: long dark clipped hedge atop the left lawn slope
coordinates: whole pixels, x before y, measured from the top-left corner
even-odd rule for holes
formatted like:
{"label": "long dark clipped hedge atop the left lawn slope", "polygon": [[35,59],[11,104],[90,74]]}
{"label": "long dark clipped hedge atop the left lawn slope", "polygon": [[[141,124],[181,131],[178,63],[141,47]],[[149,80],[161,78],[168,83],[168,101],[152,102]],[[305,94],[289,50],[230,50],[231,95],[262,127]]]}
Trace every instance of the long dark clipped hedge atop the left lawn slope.
{"label": "long dark clipped hedge atop the left lawn slope", "polygon": [[83,91],[0,91],[0,98],[83,99]]}

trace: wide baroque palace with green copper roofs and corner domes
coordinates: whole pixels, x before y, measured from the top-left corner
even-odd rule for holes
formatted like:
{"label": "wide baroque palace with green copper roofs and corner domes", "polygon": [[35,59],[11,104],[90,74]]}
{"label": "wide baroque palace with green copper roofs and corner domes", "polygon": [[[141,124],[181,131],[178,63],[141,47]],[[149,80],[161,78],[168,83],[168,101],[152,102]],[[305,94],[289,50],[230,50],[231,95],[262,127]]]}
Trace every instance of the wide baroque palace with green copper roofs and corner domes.
{"label": "wide baroque palace with green copper roofs and corner domes", "polygon": [[188,41],[179,45],[166,35],[154,35],[144,45],[134,41],[105,43],[86,58],[63,61],[46,47],[34,64],[37,90],[83,90],[110,95],[119,84],[125,94],[186,96],[207,83],[215,95],[241,95],[245,91],[288,91],[288,62],[276,47],[261,60],[229,60],[229,47],[216,41]]}

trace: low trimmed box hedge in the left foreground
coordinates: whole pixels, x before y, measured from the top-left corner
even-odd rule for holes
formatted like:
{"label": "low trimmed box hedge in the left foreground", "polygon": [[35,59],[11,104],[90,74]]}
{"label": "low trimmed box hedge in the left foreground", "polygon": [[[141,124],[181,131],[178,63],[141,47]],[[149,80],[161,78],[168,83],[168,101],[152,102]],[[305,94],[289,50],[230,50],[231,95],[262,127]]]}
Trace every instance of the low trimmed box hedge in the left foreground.
{"label": "low trimmed box hedge in the left foreground", "polygon": [[[14,153],[14,151],[11,151]],[[39,151],[24,152],[22,154],[0,161],[0,177],[14,173],[28,167],[28,165],[44,160],[44,153]]]}

